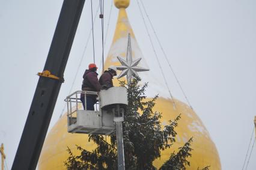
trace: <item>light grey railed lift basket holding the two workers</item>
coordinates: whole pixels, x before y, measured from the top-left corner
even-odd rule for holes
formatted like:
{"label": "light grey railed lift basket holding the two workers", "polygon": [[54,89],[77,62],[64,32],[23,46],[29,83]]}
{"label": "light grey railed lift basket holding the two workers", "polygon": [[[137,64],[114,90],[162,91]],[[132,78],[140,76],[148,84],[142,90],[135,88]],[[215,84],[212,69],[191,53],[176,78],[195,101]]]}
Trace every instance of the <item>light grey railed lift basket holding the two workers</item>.
{"label": "light grey railed lift basket holding the two workers", "polygon": [[[97,96],[96,111],[84,110],[80,95]],[[124,107],[127,106],[127,90],[124,87],[112,87],[99,93],[93,91],[75,91],[65,99],[67,102],[67,124],[70,133],[110,135],[115,131],[115,122],[123,121]],[[74,105],[75,104],[75,105]],[[73,105],[73,106],[72,106]]]}

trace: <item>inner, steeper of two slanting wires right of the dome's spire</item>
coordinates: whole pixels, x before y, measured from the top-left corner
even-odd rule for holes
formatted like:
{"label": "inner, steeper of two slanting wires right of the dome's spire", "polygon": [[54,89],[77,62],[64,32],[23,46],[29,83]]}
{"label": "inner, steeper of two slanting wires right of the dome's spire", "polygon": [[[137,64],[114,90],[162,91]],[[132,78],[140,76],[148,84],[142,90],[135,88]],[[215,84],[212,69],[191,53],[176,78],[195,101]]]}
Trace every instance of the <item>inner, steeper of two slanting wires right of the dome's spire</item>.
{"label": "inner, steeper of two slanting wires right of the dome's spire", "polygon": [[158,63],[158,65],[159,65],[160,71],[161,71],[162,76],[163,76],[163,80],[165,81],[165,85],[166,85],[166,87],[168,88],[169,96],[171,97],[171,100],[172,100],[172,102],[173,102],[173,105],[174,105],[174,107],[176,108],[174,99],[173,99],[172,94],[171,94],[171,90],[169,89],[169,86],[168,86],[168,83],[167,83],[165,74],[163,73],[163,68],[162,68],[161,65],[160,65],[159,58],[157,57],[156,50],[154,49],[154,44],[153,44],[153,41],[152,41],[152,39],[151,39],[151,37],[150,37],[150,34],[149,34],[149,31],[148,31],[147,25],[146,25],[146,23],[145,23],[144,16],[143,16],[143,14],[142,14],[141,6],[139,5],[139,1],[138,1],[138,0],[137,0],[137,4],[138,4],[138,7],[139,7],[139,11],[141,12],[141,16],[142,16],[142,19],[143,19],[143,22],[144,22],[144,25],[145,25],[145,28],[146,28],[148,37],[149,37],[149,39],[150,39],[150,44],[151,44],[151,46],[152,46],[152,48],[153,48],[153,51],[154,51],[154,56],[156,57],[157,63]]}

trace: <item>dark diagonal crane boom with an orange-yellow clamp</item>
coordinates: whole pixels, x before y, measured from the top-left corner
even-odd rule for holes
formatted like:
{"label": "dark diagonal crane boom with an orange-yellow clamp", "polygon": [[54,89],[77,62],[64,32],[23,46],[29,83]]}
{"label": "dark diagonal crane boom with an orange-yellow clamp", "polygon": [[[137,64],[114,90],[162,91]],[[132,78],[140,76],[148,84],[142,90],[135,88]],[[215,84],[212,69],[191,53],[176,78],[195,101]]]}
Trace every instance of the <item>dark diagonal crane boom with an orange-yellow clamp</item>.
{"label": "dark diagonal crane boom with an orange-yellow clamp", "polygon": [[64,0],[11,169],[35,169],[85,0]]}

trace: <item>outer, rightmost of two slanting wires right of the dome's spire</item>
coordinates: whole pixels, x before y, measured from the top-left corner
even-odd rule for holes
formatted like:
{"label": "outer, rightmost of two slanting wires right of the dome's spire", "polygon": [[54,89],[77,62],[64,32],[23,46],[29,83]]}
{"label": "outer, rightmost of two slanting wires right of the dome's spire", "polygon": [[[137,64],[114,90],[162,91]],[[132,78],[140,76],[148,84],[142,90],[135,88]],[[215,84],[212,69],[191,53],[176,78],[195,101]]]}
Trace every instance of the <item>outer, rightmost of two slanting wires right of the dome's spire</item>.
{"label": "outer, rightmost of two slanting wires right of the dome's spire", "polygon": [[[137,0],[137,1],[138,1],[138,0]],[[154,29],[154,26],[153,26],[153,24],[152,24],[152,22],[151,22],[151,20],[150,20],[150,17],[148,16],[147,11],[145,10],[145,6],[144,6],[142,0],[140,0],[140,1],[141,1],[141,4],[142,4],[142,7],[143,7],[143,9],[144,9],[144,12],[145,12],[145,14],[146,14],[146,16],[147,16],[147,18],[148,18],[148,21],[149,21],[149,23],[150,23],[150,26],[151,26],[151,28],[153,29],[154,35],[155,35],[156,40],[157,40],[157,42],[158,42],[158,44],[159,44],[159,46],[160,46],[160,49],[162,50],[163,55],[165,56],[165,59],[166,59],[168,65],[169,65],[169,68],[171,69],[172,74],[174,74],[174,77],[175,77],[175,79],[176,79],[176,81],[177,81],[177,83],[178,83],[178,86],[180,87],[180,90],[181,90],[182,93],[183,93],[183,96],[185,97],[185,99],[186,99],[186,101],[187,101],[187,104],[190,106],[191,109],[193,109],[192,106],[190,105],[189,99],[187,99],[187,96],[186,96],[186,94],[184,93],[183,88],[181,87],[180,82],[178,81],[178,78],[177,78],[177,76],[176,76],[176,74],[175,74],[175,72],[174,72],[174,69],[172,68],[172,66],[171,66],[171,64],[170,64],[170,62],[169,62],[169,59],[167,58],[167,55],[166,55],[166,53],[165,53],[165,50],[163,50],[163,46],[162,46],[162,44],[160,43],[160,40],[159,40],[159,38],[158,38],[158,36],[157,36],[157,34],[156,34],[156,31],[155,31],[155,29]]]}

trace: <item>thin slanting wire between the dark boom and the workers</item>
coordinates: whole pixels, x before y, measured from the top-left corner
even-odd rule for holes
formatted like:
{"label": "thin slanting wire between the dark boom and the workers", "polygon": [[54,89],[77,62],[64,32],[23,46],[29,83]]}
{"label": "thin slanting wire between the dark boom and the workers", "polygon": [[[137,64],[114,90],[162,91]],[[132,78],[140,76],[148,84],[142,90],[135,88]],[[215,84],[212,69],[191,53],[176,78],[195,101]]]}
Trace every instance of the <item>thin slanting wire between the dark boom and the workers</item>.
{"label": "thin slanting wire between the dark boom and the workers", "polygon": [[[98,5],[97,11],[96,11],[96,15],[94,16],[93,25],[94,25],[94,23],[95,23],[96,16],[97,16],[97,13],[99,12],[99,9],[100,9],[100,4]],[[74,87],[74,85],[75,85],[76,78],[78,77],[78,71],[80,70],[82,61],[83,61],[83,59],[84,59],[85,52],[86,52],[86,50],[87,50],[87,46],[88,46],[88,43],[89,43],[89,41],[90,41],[92,32],[93,32],[93,26],[92,26],[92,28],[91,28],[90,34],[88,35],[87,42],[85,43],[84,51],[83,51],[82,56],[81,56],[81,59],[80,59],[80,61],[79,61],[78,68],[76,69],[76,74],[75,74],[75,77],[74,77],[74,79],[73,79],[72,86],[71,86],[71,88],[70,88],[69,94],[72,93],[73,87]],[[63,108],[62,108],[62,111],[61,111],[61,115],[59,115],[59,118],[62,117],[62,114],[64,113],[66,106],[67,106],[67,103],[65,102],[65,104],[64,104],[64,106],[63,106]]]}

